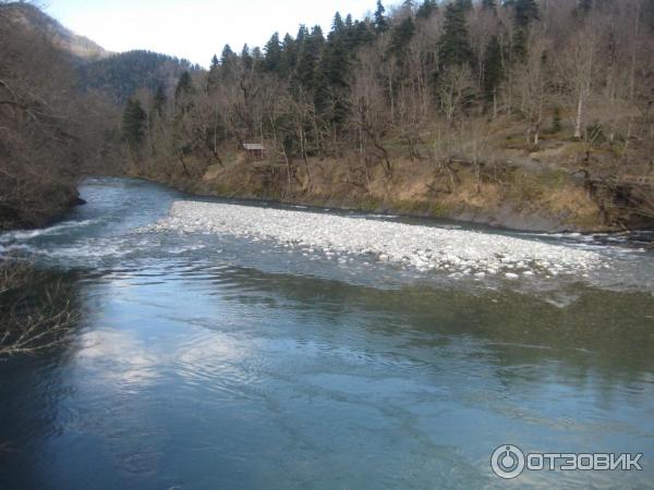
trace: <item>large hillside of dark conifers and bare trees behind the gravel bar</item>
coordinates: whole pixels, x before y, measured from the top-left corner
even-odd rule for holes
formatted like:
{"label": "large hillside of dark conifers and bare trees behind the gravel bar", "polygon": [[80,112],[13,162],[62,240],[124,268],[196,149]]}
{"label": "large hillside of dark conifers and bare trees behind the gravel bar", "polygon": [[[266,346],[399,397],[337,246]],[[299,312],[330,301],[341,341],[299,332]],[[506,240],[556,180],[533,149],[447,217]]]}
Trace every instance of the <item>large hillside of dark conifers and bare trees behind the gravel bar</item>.
{"label": "large hillside of dark conifers and bare trees behind the gravel bar", "polygon": [[136,173],[208,193],[635,222],[654,215],[653,5],[377,2],[141,90],[124,138]]}

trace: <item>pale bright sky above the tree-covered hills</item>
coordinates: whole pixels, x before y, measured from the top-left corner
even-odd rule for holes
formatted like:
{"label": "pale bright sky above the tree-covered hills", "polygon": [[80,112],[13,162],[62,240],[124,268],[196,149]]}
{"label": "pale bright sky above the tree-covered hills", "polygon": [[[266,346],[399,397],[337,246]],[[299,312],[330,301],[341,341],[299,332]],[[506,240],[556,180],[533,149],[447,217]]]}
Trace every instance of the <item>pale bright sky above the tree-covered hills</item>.
{"label": "pale bright sky above the tree-covered hills", "polygon": [[[395,2],[392,2],[395,3]],[[48,0],[65,27],[110,51],[149,49],[207,66],[229,44],[263,46],[300,24],[329,29],[337,11],[361,19],[376,0]],[[386,4],[386,2],[385,2]]]}

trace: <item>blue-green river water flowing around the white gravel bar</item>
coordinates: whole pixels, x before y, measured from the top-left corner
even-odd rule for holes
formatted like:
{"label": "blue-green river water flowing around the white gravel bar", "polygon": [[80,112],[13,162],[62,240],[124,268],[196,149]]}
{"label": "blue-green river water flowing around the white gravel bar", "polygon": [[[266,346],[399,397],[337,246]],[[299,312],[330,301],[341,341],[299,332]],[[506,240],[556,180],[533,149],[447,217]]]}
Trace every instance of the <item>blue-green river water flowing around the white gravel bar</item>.
{"label": "blue-green river water flowing around the white gravel bar", "polygon": [[[654,254],[640,242],[477,228],[604,265],[473,279],[154,229],[194,198],[140,181],[81,194],[62,222],[0,235],[81,311],[61,345],[0,360],[0,488],[654,488]],[[507,443],[644,453],[643,470],[506,481],[489,461]]]}

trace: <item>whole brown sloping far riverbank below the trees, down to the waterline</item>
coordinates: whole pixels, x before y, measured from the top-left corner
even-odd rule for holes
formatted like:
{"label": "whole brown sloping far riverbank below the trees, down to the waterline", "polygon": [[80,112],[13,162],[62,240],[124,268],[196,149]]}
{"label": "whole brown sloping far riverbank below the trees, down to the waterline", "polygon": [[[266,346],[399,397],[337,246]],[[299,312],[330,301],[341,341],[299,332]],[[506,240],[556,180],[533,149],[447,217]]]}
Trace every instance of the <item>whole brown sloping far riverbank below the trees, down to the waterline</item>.
{"label": "whole brown sloping far riverbank below the trees, down to the waterline", "polygon": [[645,225],[623,210],[609,209],[582,179],[554,166],[475,169],[459,162],[436,168],[400,160],[389,175],[382,166],[348,159],[275,166],[237,156],[223,164],[210,163],[187,158],[183,169],[134,167],[126,173],[198,195],[447,218],[522,231],[613,232]]}

